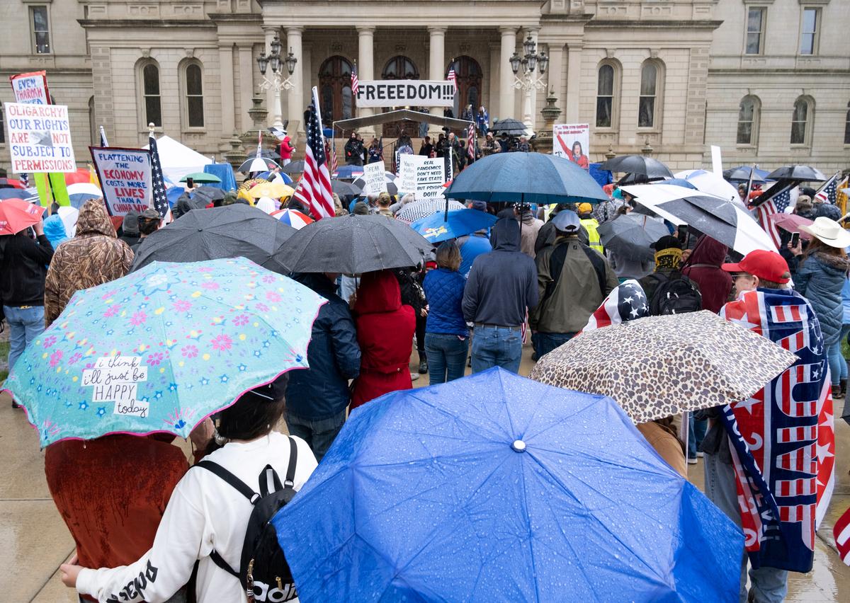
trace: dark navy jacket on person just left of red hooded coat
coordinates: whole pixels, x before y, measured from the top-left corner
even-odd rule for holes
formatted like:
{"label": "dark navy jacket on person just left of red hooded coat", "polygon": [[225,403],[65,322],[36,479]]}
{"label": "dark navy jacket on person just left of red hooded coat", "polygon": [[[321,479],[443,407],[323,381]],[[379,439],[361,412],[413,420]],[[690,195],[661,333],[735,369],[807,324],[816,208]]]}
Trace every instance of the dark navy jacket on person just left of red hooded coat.
{"label": "dark navy jacket on person just left of red hooded coat", "polygon": [[348,304],[337,296],[336,283],[324,274],[294,276],[326,304],[313,323],[307,348],[309,369],[293,370],[286,386],[286,409],[306,420],[330,419],[348,406],[348,380],[360,375],[360,346]]}

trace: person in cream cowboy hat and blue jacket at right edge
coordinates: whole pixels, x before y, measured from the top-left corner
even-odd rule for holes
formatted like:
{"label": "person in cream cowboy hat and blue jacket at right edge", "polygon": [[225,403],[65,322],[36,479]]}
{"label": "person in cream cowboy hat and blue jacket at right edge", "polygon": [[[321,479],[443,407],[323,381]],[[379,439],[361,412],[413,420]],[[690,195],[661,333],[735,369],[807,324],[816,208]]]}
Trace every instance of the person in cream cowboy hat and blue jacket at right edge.
{"label": "person in cream cowboy hat and blue jacket at right edge", "polygon": [[[811,226],[800,230],[812,235],[806,251],[802,252],[794,275],[794,288],[814,308],[824,335],[826,357],[830,363],[832,396],[841,396],[842,324],[844,303],[842,289],[850,273],[850,260],[844,248],[850,245],[850,233],[828,217],[815,218]],[[798,250],[792,250],[795,255]]]}

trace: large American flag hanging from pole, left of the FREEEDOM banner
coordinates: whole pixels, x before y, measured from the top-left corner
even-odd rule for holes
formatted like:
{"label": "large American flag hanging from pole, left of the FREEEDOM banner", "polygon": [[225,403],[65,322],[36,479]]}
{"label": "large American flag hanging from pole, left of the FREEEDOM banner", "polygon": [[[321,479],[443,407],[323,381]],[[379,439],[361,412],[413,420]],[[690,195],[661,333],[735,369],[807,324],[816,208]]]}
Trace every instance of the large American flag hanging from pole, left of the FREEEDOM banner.
{"label": "large American flag hanging from pole, left of the FREEEDOM banner", "polygon": [[307,147],[304,149],[304,173],[295,194],[292,196],[310,208],[310,213],[320,220],[333,217],[333,192],[331,174],[327,170],[325,144],[321,133],[321,124],[316,112],[318,93],[313,88],[314,104],[304,111],[304,124],[307,126]]}

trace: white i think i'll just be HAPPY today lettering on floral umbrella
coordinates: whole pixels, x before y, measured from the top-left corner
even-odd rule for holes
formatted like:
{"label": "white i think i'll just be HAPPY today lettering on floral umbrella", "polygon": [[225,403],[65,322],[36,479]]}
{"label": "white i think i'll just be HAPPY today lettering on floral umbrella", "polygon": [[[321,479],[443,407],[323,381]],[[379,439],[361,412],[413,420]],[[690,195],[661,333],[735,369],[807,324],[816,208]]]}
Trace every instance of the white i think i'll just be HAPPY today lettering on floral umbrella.
{"label": "white i think i'll just be HAPPY today lettering on floral umbrella", "polygon": [[139,401],[139,382],[148,380],[148,367],[139,356],[98,358],[82,371],[82,385],[92,388],[92,402],[114,402],[113,414],[147,418],[150,402]]}

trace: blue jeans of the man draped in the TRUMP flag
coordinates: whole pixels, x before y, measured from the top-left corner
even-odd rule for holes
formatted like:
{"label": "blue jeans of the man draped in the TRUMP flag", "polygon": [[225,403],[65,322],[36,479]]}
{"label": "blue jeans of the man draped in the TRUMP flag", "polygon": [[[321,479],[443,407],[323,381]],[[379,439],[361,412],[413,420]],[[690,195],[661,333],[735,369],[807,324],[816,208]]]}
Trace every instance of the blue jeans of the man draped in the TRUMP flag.
{"label": "blue jeans of the man draped in the TRUMP flag", "polygon": [[[735,525],[741,526],[738,507],[738,490],[735,487],[735,472],[732,465],[720,460],[718,454],[706,453],[706,496],[722,510]],[[741,551],[740,603],[747,600],[746,566],[749,562],[746,551]],[[750,590],[758,603],[781,603],[788,594],[788,572],[775,567],[759,567],[750,570]]]}

